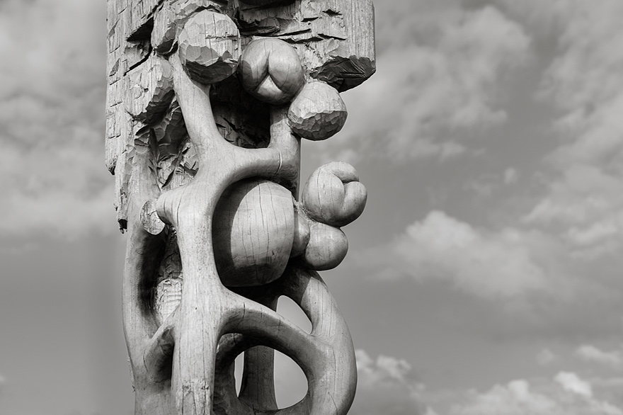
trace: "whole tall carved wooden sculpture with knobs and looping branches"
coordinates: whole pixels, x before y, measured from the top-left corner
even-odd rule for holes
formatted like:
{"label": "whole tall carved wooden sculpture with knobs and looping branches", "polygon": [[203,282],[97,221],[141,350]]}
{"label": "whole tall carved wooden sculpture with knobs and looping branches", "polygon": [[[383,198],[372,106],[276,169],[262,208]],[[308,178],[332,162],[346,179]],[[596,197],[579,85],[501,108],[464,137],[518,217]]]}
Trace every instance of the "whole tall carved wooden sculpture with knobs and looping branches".
{"label": "whole tall carved wooden sculpture with knobs and looping branches", "polygon": [[[345,414],[353,344],[316,271],[365,205],[352,166],[299,192],[300,138],[345,123],[375,72],[371,0],[108,0],[106,159],[127,229],[136,414]],[[285,295],[311,334],[275,312]],[[273,349],[307,395],[278,409]],[[244,353],[236,394],[234,359]]]}

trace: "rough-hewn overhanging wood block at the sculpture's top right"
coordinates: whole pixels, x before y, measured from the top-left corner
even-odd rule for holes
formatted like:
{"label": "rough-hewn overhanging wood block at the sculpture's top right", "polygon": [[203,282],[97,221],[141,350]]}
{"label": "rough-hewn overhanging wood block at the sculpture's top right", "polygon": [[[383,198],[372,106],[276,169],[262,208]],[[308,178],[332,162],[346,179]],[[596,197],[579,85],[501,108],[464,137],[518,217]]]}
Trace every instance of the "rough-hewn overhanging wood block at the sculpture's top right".
{"label": "rough-hewn overhanging wood block at the sculpture's top right", "polygon": [[376,71],[372,0],[296,0],[263,8],[234,0],[232,5],[241,34],[290,43],[308,76],[338,91],[362,84]]}

